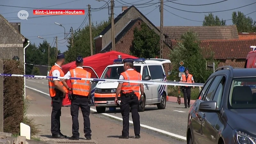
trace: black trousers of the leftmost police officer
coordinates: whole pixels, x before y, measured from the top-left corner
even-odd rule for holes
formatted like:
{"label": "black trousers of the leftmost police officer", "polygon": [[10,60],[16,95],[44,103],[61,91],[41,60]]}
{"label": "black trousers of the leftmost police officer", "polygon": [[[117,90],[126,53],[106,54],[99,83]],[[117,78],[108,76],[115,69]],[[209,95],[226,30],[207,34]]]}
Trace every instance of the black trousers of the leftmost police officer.
{"label": "black trousers of the leftmost police officer", "polygon": [[60,133],[60,115],[62,107],[62,98],[52,97],[52,116],[51,116],[51,132],[52,134]]}

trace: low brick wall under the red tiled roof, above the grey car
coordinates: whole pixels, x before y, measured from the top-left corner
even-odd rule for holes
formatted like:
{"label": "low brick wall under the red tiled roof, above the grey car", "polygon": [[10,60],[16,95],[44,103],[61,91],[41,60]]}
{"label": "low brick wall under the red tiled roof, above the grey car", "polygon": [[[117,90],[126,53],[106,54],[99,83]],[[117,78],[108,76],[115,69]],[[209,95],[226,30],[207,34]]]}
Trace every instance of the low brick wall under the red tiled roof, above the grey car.
{"label": "low brick wall under the red tiled roof, above the grey car", "polygon": [[233,68],[244,68],[245,59],[226,59],[219,60],[220,63],[218,67],[222,66],[232,66]]}

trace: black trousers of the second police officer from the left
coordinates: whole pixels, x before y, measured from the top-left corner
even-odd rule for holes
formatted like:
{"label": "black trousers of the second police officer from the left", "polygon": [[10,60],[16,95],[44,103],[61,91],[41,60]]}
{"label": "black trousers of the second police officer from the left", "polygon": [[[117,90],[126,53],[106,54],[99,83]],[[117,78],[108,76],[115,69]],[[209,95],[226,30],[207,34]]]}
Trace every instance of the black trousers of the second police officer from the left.
{"label": "black trousers of the second police officer from the left", "polygon": [[88,96],[74,95],[75,98],[71,100],[70,113],[72,116],[72,134],[74,137],[79,137],[79,123],[78,123],[78,111],[81,108],[82,115],[84,117],[84,136],[91,137],[92,130],[90,128],[90,107],[88,103]]}

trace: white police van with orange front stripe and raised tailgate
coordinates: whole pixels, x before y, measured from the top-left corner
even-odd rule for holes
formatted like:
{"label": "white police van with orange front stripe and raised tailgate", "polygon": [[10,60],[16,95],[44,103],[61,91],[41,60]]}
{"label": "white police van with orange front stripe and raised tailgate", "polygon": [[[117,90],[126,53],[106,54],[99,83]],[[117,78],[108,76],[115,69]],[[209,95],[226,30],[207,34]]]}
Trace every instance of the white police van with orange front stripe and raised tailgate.
{"label": "white police van with orange front stripe and raised tailgate", "polygon": [[[164,72],[164,63],[171,63],[170,60],[165,59],[134,59],[133,67],[142,76],[151,76],[153,81],[166,81],[166,74]],[[121,56],[114,60],[113,65],[109,65],[102,73],[101,79],[119,79],[120,74],[124,72],[124,64]],[[168,72],[169,73],[169,72]],[[164,109],[167,98],[167,85],[158,84],[143,84],[144,85],[144,100],[139,106],[139,111],[145,110],[145,105],[157,105],[158,109]],[[99,81],[95,86],[94,91],[94,105],[98,113],[104,113],[106,108],[118,107],[115,103],[116,88],[118,82],[101,82]],[[118,102],[121,102],[120,94]]]}

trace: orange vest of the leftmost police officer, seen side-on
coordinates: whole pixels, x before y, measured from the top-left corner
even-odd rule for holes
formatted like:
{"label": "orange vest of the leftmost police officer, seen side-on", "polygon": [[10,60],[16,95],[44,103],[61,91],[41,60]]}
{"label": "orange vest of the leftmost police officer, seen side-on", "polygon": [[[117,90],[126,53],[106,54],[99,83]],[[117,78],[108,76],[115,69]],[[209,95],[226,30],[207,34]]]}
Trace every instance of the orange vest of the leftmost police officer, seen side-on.
{"label": "orange vest of the leftmost police officer, seen side-on", "polygon": [[[58,70],[60,72],[60,77],[63,77],[64,76],[64,73],[62,71],[62,69],[58,66],[52,66],[51,70],[50,70],[50,73],[49,73],[49,76],[52,76],[52,72],[54,70]],[[61,83],[61,81],[59,81],[60,85],[63,86],[63,84]],[[55,97],[56,95],[56,91],[54,90],[55,87],[55,84],[53,83],[53,79],[52,78],[49,78],[49,81],[48,81],[48,84],[49,84],[49,93],[50,93],[50,96],[51,97]],[[63,86],[63,89],[68,92],[68,90]]]}

